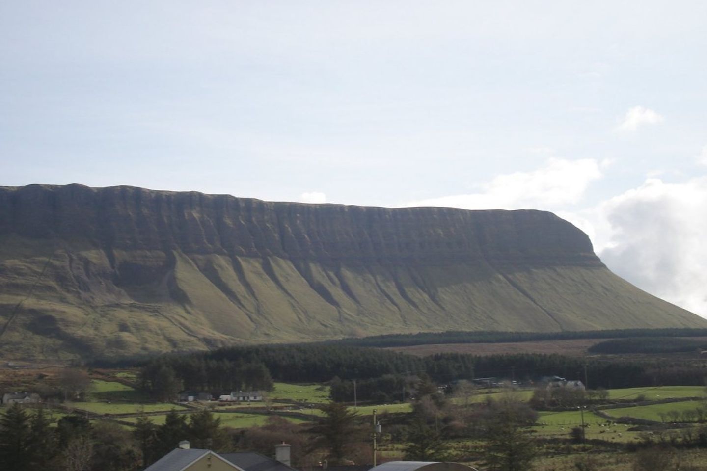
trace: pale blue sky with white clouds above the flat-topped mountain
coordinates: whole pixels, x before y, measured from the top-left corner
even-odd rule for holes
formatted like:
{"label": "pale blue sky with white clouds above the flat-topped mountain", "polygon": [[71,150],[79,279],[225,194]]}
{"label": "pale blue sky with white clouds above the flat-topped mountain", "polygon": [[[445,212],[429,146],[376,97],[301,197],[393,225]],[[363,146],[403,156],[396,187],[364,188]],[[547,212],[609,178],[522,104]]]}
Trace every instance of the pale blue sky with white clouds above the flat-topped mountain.
{"label": "pale blue sky with white clouds above the flat-topped mountain", "polygon": [[707,2],[0,2],[0,185],[549,210],[707,317]]}

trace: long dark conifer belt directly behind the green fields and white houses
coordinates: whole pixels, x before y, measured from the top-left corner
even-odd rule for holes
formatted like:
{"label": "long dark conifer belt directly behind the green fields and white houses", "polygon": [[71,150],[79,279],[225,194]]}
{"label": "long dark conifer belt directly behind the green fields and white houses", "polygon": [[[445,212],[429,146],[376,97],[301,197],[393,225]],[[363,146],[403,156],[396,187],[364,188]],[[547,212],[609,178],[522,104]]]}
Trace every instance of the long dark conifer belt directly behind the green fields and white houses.
{"label": "long dark conifer belt directly behind the green fields and white houses", "polygon": [[[559,354],[409,354],[347,345],[257,345],[206,353],[174,354],[144,366],[144,385],[157,397],[179,388],[194,390],[268,389],[272,380],[325,382],[336,377],[335,398],[353,397],[352,380],[362,400],[402,399],[405,376],[426,374],[440,384],[474,378],[537,381],[543,376],[585,380],[590,388],[631,388],[665,384],[702,384],[707,369],[698,364],[587,359]],[[378,397],[376,397],[376,395]]]}

